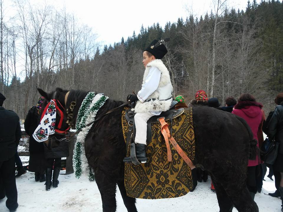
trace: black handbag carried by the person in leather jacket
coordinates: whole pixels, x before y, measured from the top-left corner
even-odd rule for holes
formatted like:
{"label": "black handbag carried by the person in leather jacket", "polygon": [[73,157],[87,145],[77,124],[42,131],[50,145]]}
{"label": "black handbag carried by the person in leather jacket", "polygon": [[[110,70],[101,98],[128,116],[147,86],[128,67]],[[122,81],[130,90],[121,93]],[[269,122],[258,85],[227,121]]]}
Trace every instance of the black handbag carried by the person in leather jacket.
{"label": "black handbag carried by the person in leather jacket", "polygon": [[261,146],[260,158],[267,164],[273,164],[277,158],[279,142],[266,138]]}

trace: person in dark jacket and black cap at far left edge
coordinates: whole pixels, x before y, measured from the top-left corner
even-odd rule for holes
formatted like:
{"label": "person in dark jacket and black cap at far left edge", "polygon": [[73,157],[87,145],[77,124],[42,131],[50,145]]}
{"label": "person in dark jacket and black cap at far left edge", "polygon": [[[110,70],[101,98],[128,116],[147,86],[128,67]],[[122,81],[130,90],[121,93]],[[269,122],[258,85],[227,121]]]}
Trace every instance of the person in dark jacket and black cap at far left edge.
{"label": "person in dark jacket and black cap at far left edge", "polygon": [[0,93],[0,198],[6,195],[6,207],[16,211],[19,206],[15,178],[15,154],[22,135],[19,116],[2,107],[6,98]]}

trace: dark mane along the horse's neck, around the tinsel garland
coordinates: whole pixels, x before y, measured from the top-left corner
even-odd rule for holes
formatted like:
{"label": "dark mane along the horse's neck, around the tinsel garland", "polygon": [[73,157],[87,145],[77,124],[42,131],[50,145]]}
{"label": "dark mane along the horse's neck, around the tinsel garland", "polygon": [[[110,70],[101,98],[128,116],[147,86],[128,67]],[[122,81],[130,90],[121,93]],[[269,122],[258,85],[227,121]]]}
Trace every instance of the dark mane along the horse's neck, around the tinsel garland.
{"label": "dark mane along the horse's neck, around the tinsel garland", "polygon": [[[88,94],[89,91],[82,91],[82,90],[70,90],[70,93],[68,95],[68,99],[66,102],[66,109],[69,108],[70,110],[70,104],[71,102],[76,102],[76,106],[73,109],[73,121],[74,123],[77,120],[77,115],[78,111],[80,109],[80,105],[83,102],[84,98]],[[111,110],[115,107],[119,107],[122,105],[124,102],[123,101],[117,101],[117,100],[112,100],[108,99],[106,103],[101,107],[101,109],[98,111],[97,116],[102,115],[106,113],[108,110]]]}

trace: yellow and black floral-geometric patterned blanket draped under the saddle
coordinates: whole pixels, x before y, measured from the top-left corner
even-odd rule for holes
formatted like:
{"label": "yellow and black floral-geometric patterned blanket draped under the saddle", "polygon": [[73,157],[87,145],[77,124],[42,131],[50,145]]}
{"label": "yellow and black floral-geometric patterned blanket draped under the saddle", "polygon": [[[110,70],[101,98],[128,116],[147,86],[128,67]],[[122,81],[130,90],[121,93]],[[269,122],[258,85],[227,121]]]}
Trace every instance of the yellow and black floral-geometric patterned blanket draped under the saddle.
{"label": "yellow and black floral-geometric patterned blanket draped under the saddle", "polygon": [[[129,129],[122,112],[123,134]],[[170,129],[170,122],[167,121]],[[149,161],[140,165],[125,163],[125,187],[127,196],[141,199],[174,198],[187,194],[192,189],[192,173],[189,166],[170,143],[172,161],[167,160],[167,149],[161,134],[160,123],[152,124],[152,140],[147,144]],[[186,155],[195,159],[195,135],[192,122],[192,108],[173,119],[172,136]],[[127,157],[130,155],[130,148]]]}

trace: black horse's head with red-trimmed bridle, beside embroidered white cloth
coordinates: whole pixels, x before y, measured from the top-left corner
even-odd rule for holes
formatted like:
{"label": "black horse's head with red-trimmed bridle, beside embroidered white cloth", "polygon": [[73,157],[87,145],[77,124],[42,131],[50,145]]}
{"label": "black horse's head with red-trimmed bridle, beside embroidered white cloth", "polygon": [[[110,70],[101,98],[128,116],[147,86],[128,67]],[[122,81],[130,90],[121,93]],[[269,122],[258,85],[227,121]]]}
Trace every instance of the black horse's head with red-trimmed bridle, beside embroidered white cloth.
{"label": "black horse's head with red-trimmed bridle, beside embroidered white cloth", "polygon": [[[40,115],[45,113],[47,104],[50,100],[54,100],[56,102],[56,122],[55,122],[55,134],[49,136],[48,140],[45,141],[48,148],[54,148],[59,145],[59,142],[62,140],[67,140],[66,137],[69,135],[70,127],[66,123],[68,120],[67,113],[66,113],[66,94],[68,90],[62,90],[61,88],[56,88],[55,91],[51,93],[47,93],[42,89],[37,89],[40,95],[45,97],[45,101],[42,104],[42,109]],[[66,98],[67,99],[67,98]]]}

